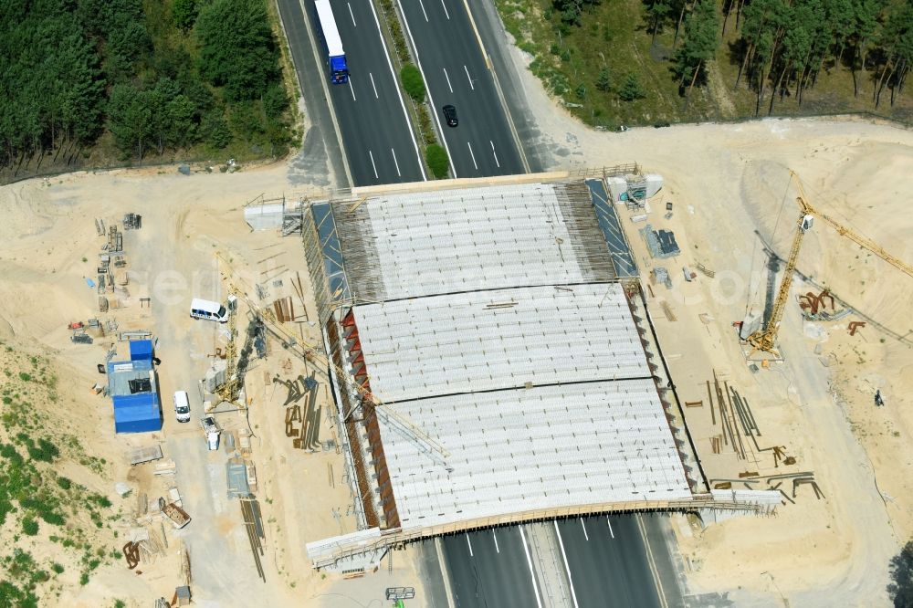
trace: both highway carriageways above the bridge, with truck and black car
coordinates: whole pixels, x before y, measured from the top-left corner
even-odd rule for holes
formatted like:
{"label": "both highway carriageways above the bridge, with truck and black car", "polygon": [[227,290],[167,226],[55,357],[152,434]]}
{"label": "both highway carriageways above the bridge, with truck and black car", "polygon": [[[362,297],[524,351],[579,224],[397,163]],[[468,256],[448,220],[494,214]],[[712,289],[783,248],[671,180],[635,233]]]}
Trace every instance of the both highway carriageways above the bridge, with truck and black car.
{"label": "both highway carriageways above the bridge, with truck and black car", "polygon": [[[371,0],[331,0],[331,5],[350,70],[349,82],[341,85],[331,84],[326,75],[312,0],[278,0],[312,120],[328,146],[338,131],[352,185],[425,180]],[[462,0],[404,0],[401,5],[453,176],[525,173],[512,122],[467,5]],[[322,100],[316,91],[324,92]],[[456,128],[443,121],[441,107],[446,104],[456,106]]]}

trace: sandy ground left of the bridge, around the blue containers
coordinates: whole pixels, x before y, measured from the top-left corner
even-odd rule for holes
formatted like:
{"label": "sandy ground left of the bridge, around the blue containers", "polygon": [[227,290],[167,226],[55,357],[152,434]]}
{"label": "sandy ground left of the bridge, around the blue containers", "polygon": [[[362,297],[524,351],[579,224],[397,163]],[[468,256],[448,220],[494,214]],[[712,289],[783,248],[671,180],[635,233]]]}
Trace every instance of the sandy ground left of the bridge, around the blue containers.
{"label": "sandy ground left of the bridge, around the blue containers", "polygon": [[[315,370],[313,364],[307,366],[285,351],[280,341],[270,338],[267,358],[255,360],[248,370],[249,421],[238,414],[219,414],[226,434],[237,437],[243,429],[253,433],[250,460],[266,528],[263,565],[267,583],[257,579],[237,502],[226,498],[226,449],[207,452],[199,427],[178,424],[173,418],[171,394],[180,389],[190,392],[194,417],[202,415],[196,382],[215,361],[216,349],[226,348],[224,328],[194,322],[186,309],[194,296],[224,299],[227,285],[220,275],[230,274],[236,286],[263,308],[271,308],[274,299],[292,297],[299,322],[287,323],[287,329],[302,342],[320,340],[318,328],[309,322],[308,315],[316,309],[299,239],[251,232],[242,215],[243,205],[258,194],[296,189],[288,176],[286,164],[190,177],[176,170],[75,173],[0,189],[0,204],[7,217],[0,227],[4,242],[0,249],[0,297],[5,302],[0,309],[2,338],[28,342],[55,362],[61,392],[72,393],[79,409],[88,413],[79,418],[73,431],[90,439],[89,452],[112,463],[110,475],[103,480],[80,474],[78,467],[66,462],[61,466],[75,481],[112,498],[116,498],[112,493],[115,481],[131,485],[132,498],[122,503],[127,514],[123,529],[132,519],[137,495],[155,499],[166,495],[169,487],[179,489],[185,510],[194,518],[187,528],[168,532],[168,550],[154,562],[143,561],[138,569],[142,574],[128,571],[122,560],[115,561],[96,572],[89,584],[80,586],[76,583],[78,571],[73,569],[73,576],[67,573],[60,580],[73,579],[64,585],[58,603],[48,600],[43,605],[89,608],[106,605],[113,598],[130,605],[149,605],[159,596],[171,598],[180,584],[178,551],[182,546],[191,555],[194,602],[199,605],[357,606],[380,602],[387,586],[421,590],[415,560],[408,557],[414,551],[397,553],[392,569],[385,561],[383,576],[358,581],[325,577],[308,566],[307,542],[354,530],[348,509],[352,497],[338,450],[331,446],[316,451],[296,449],[287,436],[287,408],[299,404],[306,410],[307,397],[289,400],[289,388],[281,382],[298,381],[300,386],[300,377]],[[297,170],[294,181],[300,183]],[[321,183],[319,179],[315,182]],[[96,290],[86,283],[86,278],[95,275],[95,260],[105,242],[96,234],[93,219],[102,218],[112,225],[126,212],[141,214],[143,226],[124,233],[128,282],[109,294],[111,308],[100,313]],[[215,251],[230,260],[231,268],[216,266]],[[305,291],[303,301],[292,288],[298,278]],[[262,301],[253,288],[255,283],[268,291]],[[145,298],[150,305],[142,304]],[[246,303],[241,304],[242,333],[248,309]],[[127,356],[125,343],[118,343],[115,332],[97,336],[91,345],[69,341],[69,322],[95,317],[116,322],[120,331],[154,332],[156,352],[163,361],[159,367],[162,432],[114,435],[110,400],[89,394],[93,383],[105,382],[95,371],[105,353],[120,346],[117,358]],[[321,373],[316,373],[320,383],[317,438],[332,442],[336,434],[330,394]],[[303,386],[300,389],[304,391]],[[298,430],[300,425],[294,424]],[[165,458],[176,464],[174,477],[153,476],[152,464],[130,467],[126,463],[131,447],[152,443],[161,444]],[[157,526],[156,520],[153,527]],[[121,540],[112,542],[122,544]],[[44,554],[40,547],[32,550]]]}

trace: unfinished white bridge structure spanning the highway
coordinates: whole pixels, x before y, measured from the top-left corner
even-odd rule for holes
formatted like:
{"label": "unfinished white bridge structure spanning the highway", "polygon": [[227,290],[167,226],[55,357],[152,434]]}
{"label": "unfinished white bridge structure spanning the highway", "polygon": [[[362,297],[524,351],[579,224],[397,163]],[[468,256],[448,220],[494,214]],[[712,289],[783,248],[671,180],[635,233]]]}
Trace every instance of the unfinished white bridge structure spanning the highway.
{"label": "unfinished white bridge structure spanning the highway", "polygon": [[[463,529],[714,503],[624,232],[615,251],[603,233],[619,226],[606,193],[592,179],[314,205],[305,243],[368,563]],[[766,512],[779,496],[719,502]],[[364,530],[309,555],[351,571]]]}

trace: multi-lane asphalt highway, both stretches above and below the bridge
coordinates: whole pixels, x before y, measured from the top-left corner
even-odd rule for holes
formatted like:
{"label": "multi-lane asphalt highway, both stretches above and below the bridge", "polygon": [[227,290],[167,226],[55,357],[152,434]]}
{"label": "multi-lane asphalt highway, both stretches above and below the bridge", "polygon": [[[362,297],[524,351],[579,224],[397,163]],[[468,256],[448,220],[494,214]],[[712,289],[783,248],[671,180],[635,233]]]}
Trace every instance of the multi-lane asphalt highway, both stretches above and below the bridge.
{"label": "multi-lane asphalt highway, both stretches above and below the bridge", "polygon": [[[344,85],[329,83],[313,0],[278,0],[310,121],[320,130],[331,166],[344,165],[356,186],[424,180],[371,0],[331,0],[331,5],[351,71]],[[521,110],[522,95],[509,85],[513,99],[501,99],[483,51],[483,39],[497,44],[494,8],[481,6],[478,31],[464,0],[401,0],[400,5],[453,176],[541,170],[544,156],[536,152],[541,144],[534,125],[505,110],[505,103]],[[502,49],[495,48],[495,57],[496,65],[507,64]],[[456,128],[443,120],[446,104],[456,106]],[[531,146],[529,160],[519,141]],[[681,605],[664,521],[634,515],[569,519],[447,537],[442,547],[454,603],[459,608]],[[427,552],[426,560],[425,575],[431,576],[430,562],[436,559]]]}

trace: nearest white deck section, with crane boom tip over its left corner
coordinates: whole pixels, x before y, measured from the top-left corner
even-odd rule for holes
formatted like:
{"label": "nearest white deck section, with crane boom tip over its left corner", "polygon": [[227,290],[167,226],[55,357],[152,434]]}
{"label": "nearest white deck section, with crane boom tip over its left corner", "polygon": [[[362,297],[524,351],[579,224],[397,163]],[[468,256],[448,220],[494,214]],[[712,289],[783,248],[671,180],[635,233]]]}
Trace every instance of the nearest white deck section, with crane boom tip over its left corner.
{"label": "nearest white deck section, with crane boom tip over its left corner", "polygon": [[404,529],[691,497],[652,380],[460,394],[394,407],[446,446],[452,469],[378,408]]}

